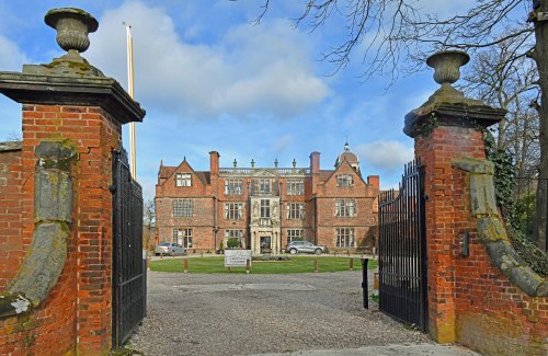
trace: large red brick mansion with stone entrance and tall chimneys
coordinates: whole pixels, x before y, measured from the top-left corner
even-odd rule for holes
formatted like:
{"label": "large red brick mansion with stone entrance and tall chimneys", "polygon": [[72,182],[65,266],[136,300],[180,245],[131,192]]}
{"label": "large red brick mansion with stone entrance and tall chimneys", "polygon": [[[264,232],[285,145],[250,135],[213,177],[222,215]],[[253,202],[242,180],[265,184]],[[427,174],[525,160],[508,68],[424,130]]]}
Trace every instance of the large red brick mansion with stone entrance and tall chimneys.
{"label": "large red brick mansion with stone entrance and tall chimneys", "polygon": [[357,246],[377,220],[379,176],[362,177],[359,161],[346,143],[334,170],[310,166],[219,168],[194,171],[160,163],[156,214],[160,242],[178,242],[191,251],[244,248],[254,254],[279,253],[292,240],[308,240],[333,250]]}

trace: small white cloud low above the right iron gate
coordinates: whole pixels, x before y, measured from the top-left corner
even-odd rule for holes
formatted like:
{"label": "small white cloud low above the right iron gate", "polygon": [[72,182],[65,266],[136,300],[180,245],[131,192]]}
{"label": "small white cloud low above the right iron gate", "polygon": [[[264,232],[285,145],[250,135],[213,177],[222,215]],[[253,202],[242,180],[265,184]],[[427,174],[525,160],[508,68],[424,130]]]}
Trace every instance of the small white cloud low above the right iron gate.
{"label": "small white cloud low above the right iron gate", "polygon": [[403,164],[414,157],[412,147],[393,140],[362,143],[355,148],[355,152],[362,162],[365,162],[367,171],[370,172],[372,166],[389,174],[402,171]]}

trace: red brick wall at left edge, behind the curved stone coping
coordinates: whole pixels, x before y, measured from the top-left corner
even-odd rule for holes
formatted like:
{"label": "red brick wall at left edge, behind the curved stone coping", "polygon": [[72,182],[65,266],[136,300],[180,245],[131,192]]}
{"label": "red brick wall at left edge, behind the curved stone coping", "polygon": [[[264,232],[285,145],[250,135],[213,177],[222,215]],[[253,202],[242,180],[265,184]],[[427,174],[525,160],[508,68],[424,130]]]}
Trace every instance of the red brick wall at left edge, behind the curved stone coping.
{"label": "red brick wall at left edge, behind the curved stone coping", "polygon": [[0,152],[0,290],[15,276],[30,241],[21,239],[23,172],[21,150]]}

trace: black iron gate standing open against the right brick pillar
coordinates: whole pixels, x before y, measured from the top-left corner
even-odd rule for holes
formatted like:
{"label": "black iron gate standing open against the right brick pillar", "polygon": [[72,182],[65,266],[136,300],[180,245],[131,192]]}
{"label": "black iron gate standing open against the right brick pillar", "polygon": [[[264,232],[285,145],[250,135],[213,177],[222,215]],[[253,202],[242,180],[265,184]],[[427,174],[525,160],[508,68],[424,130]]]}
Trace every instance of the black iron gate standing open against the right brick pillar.
{"label": "black iron gate standing open against the right brick pillar", "polygon": [[426,286],[424,173],[413,161],[399,191],[379,196],[379,309],[426,331]]}

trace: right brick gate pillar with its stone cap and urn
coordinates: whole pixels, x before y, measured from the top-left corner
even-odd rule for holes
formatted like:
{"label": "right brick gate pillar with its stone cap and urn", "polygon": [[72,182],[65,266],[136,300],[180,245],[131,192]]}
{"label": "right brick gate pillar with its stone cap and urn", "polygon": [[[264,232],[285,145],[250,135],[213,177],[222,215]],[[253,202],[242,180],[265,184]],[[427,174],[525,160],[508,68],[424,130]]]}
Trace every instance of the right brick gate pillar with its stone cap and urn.
{"label": "right brick gate pillar with its stone cap and urn", "polygon": [[442,88],[406,115],[403,129],[414,138],[415,157],[425,168],[429,329],[441,343],[457,340],[455,262],[460,259],[459,234],[475,227],[465,207],[464,173],[452,162],[457,158],[484,159],[483,129],[505,114],[466,99],[450,85],[468,59],[457,51],[427,59]]}

